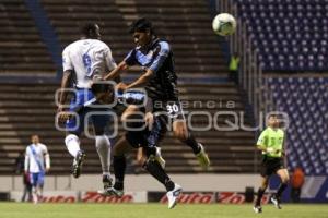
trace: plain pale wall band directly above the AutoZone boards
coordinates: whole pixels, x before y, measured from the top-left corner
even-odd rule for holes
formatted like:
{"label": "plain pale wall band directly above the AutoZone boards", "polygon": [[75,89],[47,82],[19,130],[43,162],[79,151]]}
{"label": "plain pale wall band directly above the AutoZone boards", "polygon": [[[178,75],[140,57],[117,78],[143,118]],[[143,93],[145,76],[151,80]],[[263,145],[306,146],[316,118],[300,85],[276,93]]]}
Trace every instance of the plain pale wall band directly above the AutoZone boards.
{"label": "plain pale wall band directly above the AutoZone boards", "polygon": [[[185,191],[245,191],[246,186],[259,185],[257,174],[172,174],[171,178],[183,185]],[[241,182],[242,181],[242,182]],[[48,175],[45,191],[90,191],[102,187],[102,177],[81,175],[78,180],[68,175]],[[148,174],[126,175],[128,191],[163,191],[163,186]],[[23,190],[23,179],[19,175],[0,177],[0,191]]]}

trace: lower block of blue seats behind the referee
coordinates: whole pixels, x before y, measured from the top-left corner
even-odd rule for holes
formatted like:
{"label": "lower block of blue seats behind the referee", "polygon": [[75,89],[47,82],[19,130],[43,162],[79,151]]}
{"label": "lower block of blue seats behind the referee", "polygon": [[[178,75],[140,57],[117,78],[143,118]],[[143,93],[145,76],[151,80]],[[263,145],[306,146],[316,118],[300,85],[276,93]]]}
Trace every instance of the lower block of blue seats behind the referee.
{"label": "lower block of blue seats behind the referee", "polygon": [[268,78],[276,107],[288,113],[289,168],[306,174],[328,173],[328,80],[324,77]]}

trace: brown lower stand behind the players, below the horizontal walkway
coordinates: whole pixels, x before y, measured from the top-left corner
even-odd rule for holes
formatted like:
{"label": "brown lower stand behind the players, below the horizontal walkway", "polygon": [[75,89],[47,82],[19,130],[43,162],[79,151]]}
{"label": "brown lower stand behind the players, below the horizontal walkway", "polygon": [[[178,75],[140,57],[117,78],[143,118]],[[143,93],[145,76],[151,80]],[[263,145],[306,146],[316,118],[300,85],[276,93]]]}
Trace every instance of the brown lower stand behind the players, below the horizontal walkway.
{"label": "brown lower stand behind the players, below the horizontal walkway", "polygon": [[[209,86],[212,87],[211,92],[209,92]],[[1,84],[0,147],[3,150],[1,153],[3,158],[1,158],[0,173],[13,171],[15,157],[28,145],[30,136],[33,133],[38,133],[42,142],[48,145],[52,158],[51,173],[68,173],[70,171],[71,157],[63,145],[65,134],[57,131],[54,125],[56,113],[54,93],[57,87],[58,84],[47,84],[47,86],[34,83],[24,85]],[[180,92],[183,100],[186,100],[185,104],[190,106],[186,110],[201,111],[211,101],[212,109],[208,111],[214,114],[216,111],[224,111],[227,106],[226,101],[233,100],[236,102],[235,108],[230,108],[229,111],[233,110],[238,113],[244,111],[241,96],[232,84],[186,84],[180,86]],[[231,116],[220,116],[216,124],[221,128],[226,126],[223,119],[234,122]],[[196,116],[192,119],[192,124],[196,128],[204,128],[208,123],[209,121],[204,117]],[[195,132],[195,135],[208,148],[213,164],[211,172],[251,172],[254,170],[254,134],[251,132],[218,132],[212,129],[207,132]],[[99,172],[99,161],[93,142],[84,138],[82,144],[83,149],[87,153],[84,172]],[[171,134],[163,142],[162,147],[169,172],[200,171],[190,148],[181,145]],[[131,158],[134,160],[134,154]],[[131,165],[130,168],[133,171],[134,161]],[[140,169],[136,170],[136,172],[140,172]]]}

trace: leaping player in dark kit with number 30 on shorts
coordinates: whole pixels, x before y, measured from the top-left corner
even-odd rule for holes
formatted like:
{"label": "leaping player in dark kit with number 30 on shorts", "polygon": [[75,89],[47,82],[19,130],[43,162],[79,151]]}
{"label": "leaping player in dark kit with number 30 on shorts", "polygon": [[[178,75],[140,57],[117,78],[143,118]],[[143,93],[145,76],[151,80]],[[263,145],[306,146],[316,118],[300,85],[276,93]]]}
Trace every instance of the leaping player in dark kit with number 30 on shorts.
{"label": "leaping player in dark kit with number 30 on shorts", "polygon": [[188,145],[196,155],[200,166],[208,169],[210,159],[203,146],[198,143],[188,131],[184,111],[181,109],[177,75],[174,69],[174,56],[169,44],[157,38],[152,23],[147,19],[139,19],[130,26],[136,48],[112,71],[104,80],[113,80],[129,66],[140,65],[144,73],[129,85],[120,83],[119,89],[144,87],[147,95],[153,101],[153,112],[166,112],[172,120],[173,133],[184,144]]}

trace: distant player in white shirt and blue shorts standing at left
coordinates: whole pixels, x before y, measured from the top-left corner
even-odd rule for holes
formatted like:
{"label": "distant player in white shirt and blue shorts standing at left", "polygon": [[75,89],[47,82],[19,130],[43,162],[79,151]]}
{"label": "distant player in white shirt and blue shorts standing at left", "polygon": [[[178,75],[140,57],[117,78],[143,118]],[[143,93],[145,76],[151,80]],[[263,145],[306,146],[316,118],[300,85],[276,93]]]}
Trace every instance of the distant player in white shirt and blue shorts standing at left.
{"label": "distant player in white shirt and blue shorts standing at left", "polygon": [[24,171],[30,177],[32,198],[36,204],[43,195],[45,174],[50,170],[50,156],[47,146],[39,143],[38,135],[32,135],[31,142],[25,152]]}

